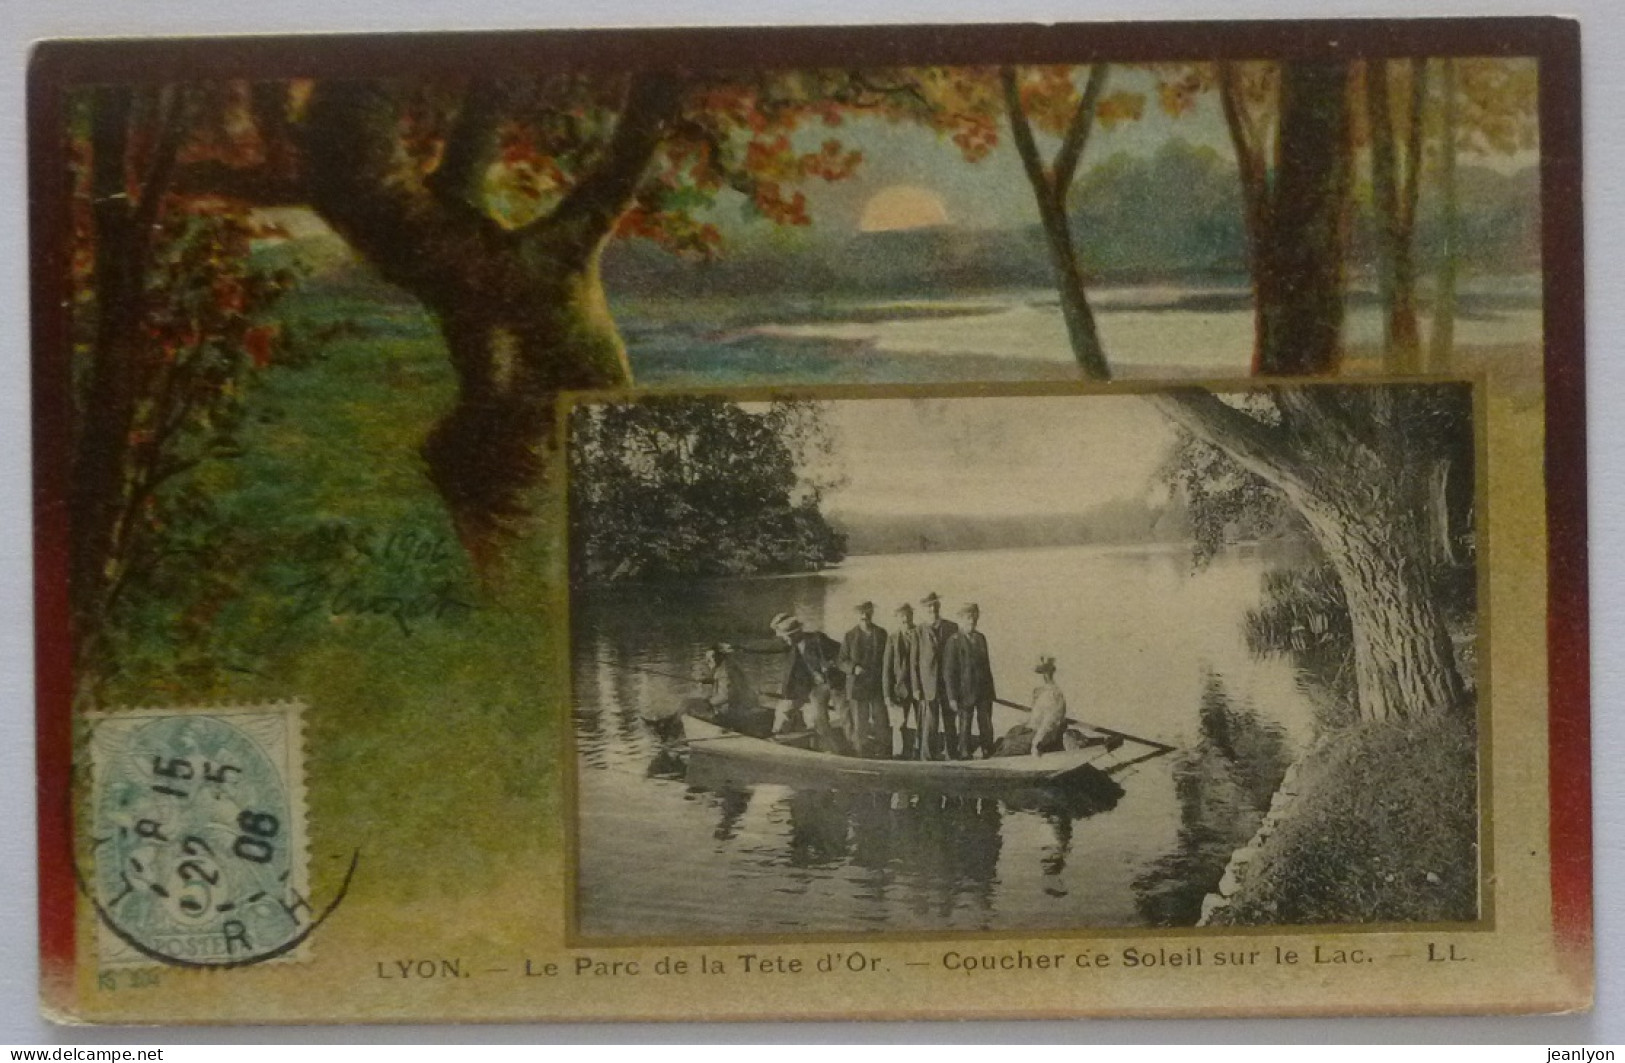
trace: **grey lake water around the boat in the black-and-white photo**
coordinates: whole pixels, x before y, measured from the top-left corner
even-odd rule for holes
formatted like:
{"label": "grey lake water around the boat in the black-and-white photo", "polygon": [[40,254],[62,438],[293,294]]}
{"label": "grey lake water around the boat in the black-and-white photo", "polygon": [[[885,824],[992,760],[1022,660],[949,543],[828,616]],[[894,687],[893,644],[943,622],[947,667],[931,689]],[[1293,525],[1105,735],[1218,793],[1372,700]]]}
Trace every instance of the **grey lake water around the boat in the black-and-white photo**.
{"label": "grey lake water around the boat in the black-and-white photo", "polygon": [[[1105,811],[993,798],[704,788],[642,714],[679,704],[713,640],[767,637],[795,611],[835,636],[853,606],[936,590],[982,606],[1003,697],[1025,702],[1037,655],[1060,662],[1072,715],[1190,748],[1216,684],[1230,704],[1306,740],[1294,668],[1242,637],[1268,559],[1235,553],[1199,574],[1185,548],[1072,546],[852,558],[819,575],[577,590],[578,918],[588,936],[1133,926],[1190,857],[1180,756],[1118,775]],[[760,686],[782,658],[748,658]],[[668,675],[656,675],[668,673]],[[1001,710],[999,731],[1019,714]],[[1199,801],[1198,801],[1199,803]],[[1199,813],[1198,813],[1199,814]],[[1245,827],[1243,827],[1245,829]],[[1243,834],[1245,837],[1245,834]],[[1211,842],[1212,839],[1209,839]],[[1219,839],[1219,848],[1228,845]],[[1212,853],[1209,853],[1211,857]],[[1222,866],[1217,865],[1217,866]],[[1199,892],[1214,883],[1173,883]]]}

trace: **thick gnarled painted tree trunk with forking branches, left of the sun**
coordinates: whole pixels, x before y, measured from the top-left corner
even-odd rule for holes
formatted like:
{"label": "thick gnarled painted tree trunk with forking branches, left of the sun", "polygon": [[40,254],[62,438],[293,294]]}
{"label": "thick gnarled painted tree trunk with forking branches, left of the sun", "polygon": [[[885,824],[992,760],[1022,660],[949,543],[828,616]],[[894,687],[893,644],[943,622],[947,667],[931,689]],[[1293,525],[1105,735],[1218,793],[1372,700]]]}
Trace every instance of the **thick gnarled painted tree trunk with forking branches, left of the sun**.
{"label": "thick gnarled painted tree trunk with forking branches, left of the sun", "polygon": [[564,388],[630,382],[600,257],[676,115],[676,80],[635,76],[598,164],[546,216],[504,229],[479,206],[500,89],[476,85],[429,179],[375,81],[318,83],[304,150],[317,211],[439,320],[457,405],[424,442],[429,478],[476,566],[491,572],[540,483]]}

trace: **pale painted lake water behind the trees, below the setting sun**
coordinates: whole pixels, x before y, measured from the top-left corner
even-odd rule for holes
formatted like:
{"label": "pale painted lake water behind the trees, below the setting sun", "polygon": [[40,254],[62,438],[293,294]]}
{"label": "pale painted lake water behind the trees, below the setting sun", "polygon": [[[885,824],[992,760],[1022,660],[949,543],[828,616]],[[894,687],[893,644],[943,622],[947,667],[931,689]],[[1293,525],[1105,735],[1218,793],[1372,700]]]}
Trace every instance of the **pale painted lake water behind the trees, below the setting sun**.
{"label": "pale painted lake water behind the trees, below the setting sun", "polygon": [[[1123,286],[1090,293],[1100,341],[1120,377],[1242,377],[1253,358],[1253,307],[1238,286]],[[616,309],[642,382],[938,382],[1066,377],[1074,356],[1053,291],[918,299],[808,297],[630,302]],[[1425,312],[1422,335],[1432,330]],[[1466,278],[1461,348],[1539,348],[1537,278]],[[1383,314],[1354,293],[1344,345],[1381,345]]]}

